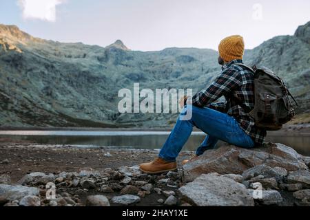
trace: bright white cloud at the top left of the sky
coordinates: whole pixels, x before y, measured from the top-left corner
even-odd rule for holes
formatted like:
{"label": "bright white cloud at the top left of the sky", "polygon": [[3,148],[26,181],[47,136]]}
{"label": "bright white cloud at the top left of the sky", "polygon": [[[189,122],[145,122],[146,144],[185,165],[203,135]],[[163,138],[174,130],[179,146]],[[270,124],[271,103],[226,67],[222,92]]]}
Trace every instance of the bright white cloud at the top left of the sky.
{"label": "bright white cloud at the top left of the sky", "polygon": [[65,0],[19,0],[18,4],[23,12],[23,19],[40,19],[56,21],[56,5]]}

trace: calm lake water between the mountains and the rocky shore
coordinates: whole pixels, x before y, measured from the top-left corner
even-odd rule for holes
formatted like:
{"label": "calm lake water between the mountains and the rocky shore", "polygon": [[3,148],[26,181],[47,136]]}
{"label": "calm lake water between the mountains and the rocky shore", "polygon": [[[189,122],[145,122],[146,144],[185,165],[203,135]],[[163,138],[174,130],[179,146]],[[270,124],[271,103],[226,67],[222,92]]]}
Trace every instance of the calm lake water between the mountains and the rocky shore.
{"label": "calm lake water between the mountains and the rocky shore", "polygon": [[[39,144],[159,149],[169,133],[169,131],[0,131],[0,137],[30,140]],[[205,133],[193,132],[183,150],[195,151],[204,138]],[[310,135],[268,135],[266,142],[282,143],[293,147],[302,155],[310,156]],[[218,146],[221,144],[223,142],[219,142]]]}

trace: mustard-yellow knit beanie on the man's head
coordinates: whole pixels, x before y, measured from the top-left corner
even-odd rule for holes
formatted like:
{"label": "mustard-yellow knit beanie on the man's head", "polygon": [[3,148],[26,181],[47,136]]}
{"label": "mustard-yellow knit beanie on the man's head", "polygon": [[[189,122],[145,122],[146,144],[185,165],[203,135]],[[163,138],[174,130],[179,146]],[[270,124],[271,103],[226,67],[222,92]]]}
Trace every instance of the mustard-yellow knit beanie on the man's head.
{"label": "mustard-yellow knit beanie on the man's head", "polygon": [[218,52],[225,62],[242,60],[245,52],[245,43],[242,36],[233,35],[223,39],[218,45]]}

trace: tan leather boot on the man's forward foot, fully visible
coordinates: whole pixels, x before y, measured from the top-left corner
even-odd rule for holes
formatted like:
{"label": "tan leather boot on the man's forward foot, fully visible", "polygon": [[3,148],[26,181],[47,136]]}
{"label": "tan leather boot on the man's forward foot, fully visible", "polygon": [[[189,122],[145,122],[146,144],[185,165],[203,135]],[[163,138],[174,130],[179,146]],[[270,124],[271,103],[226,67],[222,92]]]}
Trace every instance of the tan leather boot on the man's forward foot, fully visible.
{"label": "tan leather boot on the man's forward foot, fully visible", "polygon": [[140,170],[149,174],[165,173],[170,170],[176,170],[176,162],[167,162],[158,157],[152,162],[140,164]]}

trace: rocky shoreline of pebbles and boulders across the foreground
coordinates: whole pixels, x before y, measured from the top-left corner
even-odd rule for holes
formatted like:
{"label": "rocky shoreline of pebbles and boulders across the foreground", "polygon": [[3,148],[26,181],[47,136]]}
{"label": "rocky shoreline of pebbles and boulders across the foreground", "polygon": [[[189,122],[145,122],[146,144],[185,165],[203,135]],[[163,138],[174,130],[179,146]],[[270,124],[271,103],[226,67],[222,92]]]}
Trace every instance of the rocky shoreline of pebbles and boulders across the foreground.
{"label": "rocky shoreline of pebbles and boulders across the foreground", "polygon": [[[223,146],[178,170],[147,175],[157,151],[0,146],[0,206],[309,206],[310,157],[283,144]],[[55,198],[46,184],[56,187]],[[261,191],[260,191],[261,190]],[[261,194],[260,194],[261,193]]]}

